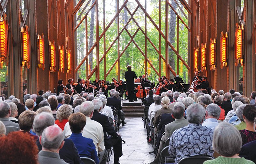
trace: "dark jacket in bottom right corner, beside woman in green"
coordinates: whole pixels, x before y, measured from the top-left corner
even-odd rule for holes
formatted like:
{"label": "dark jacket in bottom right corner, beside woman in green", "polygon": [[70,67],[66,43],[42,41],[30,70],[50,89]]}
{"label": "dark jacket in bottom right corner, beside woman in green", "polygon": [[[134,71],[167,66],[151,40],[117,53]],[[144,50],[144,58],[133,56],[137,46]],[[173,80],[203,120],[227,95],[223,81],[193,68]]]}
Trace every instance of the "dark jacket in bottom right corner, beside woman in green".
{"label": "dark jacket in bottom right corner, beside woman in green", "polygon": [[256,162],[256,141],[249,142],[242,146],[239,152],[240,157],[244,157],[246,160]]}

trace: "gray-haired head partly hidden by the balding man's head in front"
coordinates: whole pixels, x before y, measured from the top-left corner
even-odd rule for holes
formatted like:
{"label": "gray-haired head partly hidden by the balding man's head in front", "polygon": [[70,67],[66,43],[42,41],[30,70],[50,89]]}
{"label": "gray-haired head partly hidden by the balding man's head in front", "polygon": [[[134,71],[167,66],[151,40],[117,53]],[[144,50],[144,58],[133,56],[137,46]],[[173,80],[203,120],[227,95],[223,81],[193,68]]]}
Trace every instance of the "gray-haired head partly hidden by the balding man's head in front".
{"label": "gray-haired head partly hidden by the balding man's head in front", "polygon": [[41,136],[44,129],[48,126],[54,125],[55,120],[50,113],[42,112],[36,115],[33,122],[33,129],[37,136]]}

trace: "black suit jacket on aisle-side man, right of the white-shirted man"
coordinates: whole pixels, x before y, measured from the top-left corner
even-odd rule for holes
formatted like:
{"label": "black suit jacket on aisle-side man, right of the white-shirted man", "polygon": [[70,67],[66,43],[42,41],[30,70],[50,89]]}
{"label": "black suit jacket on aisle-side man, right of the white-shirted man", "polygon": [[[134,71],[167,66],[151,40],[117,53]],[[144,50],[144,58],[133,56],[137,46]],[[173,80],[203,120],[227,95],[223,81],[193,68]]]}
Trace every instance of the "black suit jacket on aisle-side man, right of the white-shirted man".
{"label": "black suit jacket on aisle-side man, right of the white-shirted man", "polygon": [[103,133],[104,133],[104,141],[108,140],[107,133],[112,137],[116,137],[116,138],[118,137],[116,131],[113,129],[110,122],[108,121],[108,116],[101,115],[98,111],[94,110],[93,116],[91,119],[94,121],[97,121],[102,125]]}

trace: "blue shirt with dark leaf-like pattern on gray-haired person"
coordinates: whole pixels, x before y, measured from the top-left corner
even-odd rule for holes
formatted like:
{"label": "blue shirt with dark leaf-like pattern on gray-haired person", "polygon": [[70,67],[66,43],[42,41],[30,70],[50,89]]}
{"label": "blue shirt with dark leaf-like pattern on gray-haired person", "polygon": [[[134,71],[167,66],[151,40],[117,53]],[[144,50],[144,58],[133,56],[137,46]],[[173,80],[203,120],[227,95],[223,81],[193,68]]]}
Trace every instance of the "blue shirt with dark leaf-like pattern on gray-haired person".
{"label": "blue shirt with dark leaf-like pattern on gray-haired person", "polygon": [[212,157],[213,131],[201,124],[189,123],[188,126],[175,130],[170,137],[169,154],[175,158],[175,164],[184,157]]}

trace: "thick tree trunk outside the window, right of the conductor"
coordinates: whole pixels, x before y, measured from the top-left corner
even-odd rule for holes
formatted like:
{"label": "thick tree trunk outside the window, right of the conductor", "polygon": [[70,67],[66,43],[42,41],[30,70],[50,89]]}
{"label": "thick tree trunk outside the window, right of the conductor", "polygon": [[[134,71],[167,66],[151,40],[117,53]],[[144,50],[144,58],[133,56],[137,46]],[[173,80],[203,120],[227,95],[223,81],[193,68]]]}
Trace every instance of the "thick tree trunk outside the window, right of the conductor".
{"label": "thick tree trunk outside the window, right of the conductor", "polygon": [[[176,10],[177,8],[177,4],[172,1],[171,2],[172,7],[174,8],[174,10]],[[170,11],[170,19],[169,19],[169,37],[168,40],[170,41],[170,43],[172,45],[174,45],[175,43],[175,27],[176,27],[176,14],[174,13],[174,11]],[[174,46],[173,46],[174,47]],[[168,52],[169,52],[169,63],[170,66],[172,67],[172,69],[175,71],[175,53],[172,51],[172,48],[170,46],[168,46]],[[179,63],[177,63],[179,64]]]}

